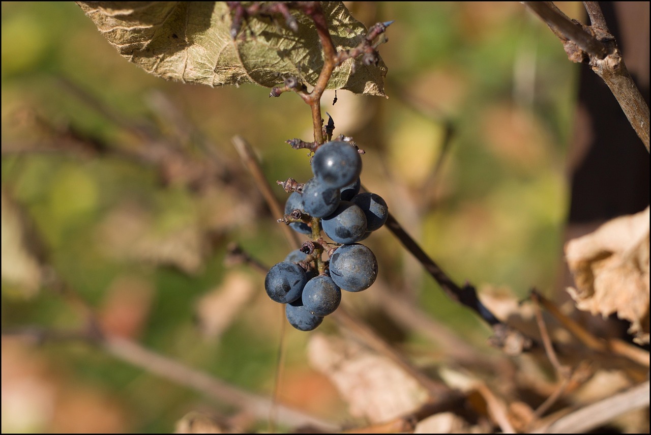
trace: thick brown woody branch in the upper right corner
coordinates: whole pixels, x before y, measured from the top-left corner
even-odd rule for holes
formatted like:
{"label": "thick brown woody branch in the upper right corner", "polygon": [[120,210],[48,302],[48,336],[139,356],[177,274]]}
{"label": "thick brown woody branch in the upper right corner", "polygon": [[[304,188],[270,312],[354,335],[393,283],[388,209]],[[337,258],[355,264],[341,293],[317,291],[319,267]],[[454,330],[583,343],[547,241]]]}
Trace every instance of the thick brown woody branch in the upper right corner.
{"label": "thick brown woody branch in the upper right corner", "polygon": [[633,130],[649,150],[649,107],[626,69],[597,2],[584,2],[592,25],[570,20],[552,2],[525,1],[558,36],[572,62],[589,64],[615,96]]}

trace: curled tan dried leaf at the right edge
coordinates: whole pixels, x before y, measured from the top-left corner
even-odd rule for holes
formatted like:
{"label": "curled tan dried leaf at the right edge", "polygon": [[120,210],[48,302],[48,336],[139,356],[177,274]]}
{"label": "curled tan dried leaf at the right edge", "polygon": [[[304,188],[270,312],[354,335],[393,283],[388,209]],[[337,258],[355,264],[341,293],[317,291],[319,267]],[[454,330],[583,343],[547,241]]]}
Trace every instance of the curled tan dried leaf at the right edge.
{"label": "curled tan dried leaf at the right edge", "polygon": [[577,308],[616,313],[631,322],[637,342],[649,343],[649,208],[570,240],[565,256],[576,284],[568,292]]}

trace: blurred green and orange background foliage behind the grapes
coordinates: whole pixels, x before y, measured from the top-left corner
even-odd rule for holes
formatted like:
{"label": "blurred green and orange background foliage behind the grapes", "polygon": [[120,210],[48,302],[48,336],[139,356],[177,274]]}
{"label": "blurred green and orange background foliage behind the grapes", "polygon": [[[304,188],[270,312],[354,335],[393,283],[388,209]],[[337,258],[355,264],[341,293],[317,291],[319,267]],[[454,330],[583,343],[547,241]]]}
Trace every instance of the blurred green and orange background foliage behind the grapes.
{"label": "blurred green and orange background foliage behind the grapes", "polygon": [[[380,48],[389,99],[341,91],[336,105],[333,92],[323,100],[335,133],[367,152],[363,184],[459,283],[471,281],[480,294],[524,296],[533,286],[553,294],[578,67],[519,3],[348,6],[367,27],[395,20]],[[581,18],[580,3],[559,6]],[[149,76],[72,2],[2,3],[1,79],[3,330],[84,326],[65,298],[39,285],[29,255],[5,243],[18,232],[6,205],[18,204],[48,263],[106,331],[270,394],[284,316],[264,294],[263,276],[225,266],[225,257],[237,242],[271,265],[289,247],[231,137],[255,147],[284,202],[275,180],[311,176],[305,150],[284,143],[311,140],[308,106],[253,85],[210,89]],[[212,156],[223,167],[197,187],[197,174],[170,158],[161,176],[133,158],[143,138],[153,150],[176,148],[195,163]],[[80,142],[105,151],[69,145]],[[367,242],[392,291],[486,346],[490,330],[449,302],[387,230]],[[370,288],[344,295],[344,304],[386,332],[376,298]],[[333,330],[329,322],[320,330]],[[288,329],[283,402],[348,418],[333,387],[307,365],[308,334]],[[401,332],[396,345],[436,356],[417,331]],[[3,432],[170,432],[191,410],[228,412],[85,344],[26,346],[3,337],[2,369]]]}

